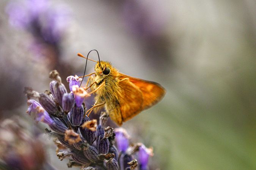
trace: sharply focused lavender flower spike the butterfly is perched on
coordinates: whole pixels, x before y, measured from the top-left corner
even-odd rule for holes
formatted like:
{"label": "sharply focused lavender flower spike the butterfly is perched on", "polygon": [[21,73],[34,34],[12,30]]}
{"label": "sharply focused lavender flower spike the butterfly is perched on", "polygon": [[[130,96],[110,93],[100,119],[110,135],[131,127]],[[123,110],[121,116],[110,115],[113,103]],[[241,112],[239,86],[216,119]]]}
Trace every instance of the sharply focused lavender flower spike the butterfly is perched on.
{"label": "sharply focused lavender flower spike the butterfly is perched on", "polygon": [[[27,112],[28,114],[34,113],[36,121],[49,125],[51,130],[47,130],[47,133],[54,137],[58,151],[64,150],[57,153],[60,160],[70,157],[68,167],[78,165],[82,167],[81,169],[126,170],[130,168],[133,170],[138,164],[134,159],[135,153],[139,151],[140,168],[144,170],[148,167],[149,149],[143,144],[130,145],[130,137],[123,128],[116,128],[116,130],[111,127],[105,128],[109,118],[108,114],[101,113],[99,125],[96,119],[90,120],[85,115],[86,108],[82,103],[88,97],[88,93],[84,88],[78,87],[77,78],[68,77],[69,87],[72,88],[70,93],[58,90],[62,83],[56,70],[50,73],[50,78],[54,81],[50,83],[50,91],[45,94],[27,88],[28,97],[40,99],[39,103],[29,99]],[[59,104],[60,96],[63,96],[61,105]],[[49,114],[44,109],[44,107],[52,106],[52,103],[53,108],[57,108],[58,114]],[[119,152],[115,147],[115,142]]]}

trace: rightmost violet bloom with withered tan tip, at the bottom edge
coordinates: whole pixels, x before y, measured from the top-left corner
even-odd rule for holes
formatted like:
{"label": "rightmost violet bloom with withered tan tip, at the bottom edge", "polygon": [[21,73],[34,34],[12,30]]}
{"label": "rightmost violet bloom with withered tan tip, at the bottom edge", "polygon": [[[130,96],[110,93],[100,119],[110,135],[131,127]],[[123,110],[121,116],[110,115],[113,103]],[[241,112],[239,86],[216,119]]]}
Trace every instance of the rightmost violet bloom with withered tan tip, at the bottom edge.
{"label": "rightmost violet bloom with withered tan tip, at the bottom edge", "polygon": [[146,148],[145,145],[141,145],[139,148],[139,162],[141,170],[148,170],[149,156],[153,156],[153,149]]}

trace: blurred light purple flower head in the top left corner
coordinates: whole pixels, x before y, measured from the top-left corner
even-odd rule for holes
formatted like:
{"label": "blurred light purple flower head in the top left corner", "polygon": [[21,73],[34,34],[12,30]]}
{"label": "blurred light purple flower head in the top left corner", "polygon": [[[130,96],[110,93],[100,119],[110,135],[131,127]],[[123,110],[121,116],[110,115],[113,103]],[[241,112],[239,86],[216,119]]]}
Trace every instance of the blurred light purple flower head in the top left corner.
{"label": "blurred light purple flower head in the top left corner", "polygon": [[11,1],[6,13],[12,26],[27,29],[47,43],[60,41],[70,20],[66,6],[52,8],[48,0]]}

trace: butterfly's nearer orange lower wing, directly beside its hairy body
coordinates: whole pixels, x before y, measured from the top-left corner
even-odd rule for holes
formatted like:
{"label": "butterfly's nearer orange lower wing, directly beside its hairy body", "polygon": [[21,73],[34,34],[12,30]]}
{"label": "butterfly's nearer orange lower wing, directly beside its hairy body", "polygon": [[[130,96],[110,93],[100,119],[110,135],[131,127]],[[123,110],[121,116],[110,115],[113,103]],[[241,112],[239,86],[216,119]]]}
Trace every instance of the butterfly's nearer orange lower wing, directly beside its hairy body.
{"label": "butterfly's nearer orange lower wing, directly beside its hairy body", "polygon": [[[118,86],[119,90],[119,107],[116,107],[116,110],[113,110],[113,114],[120,110],[122,122],[126,122],[132,117],[136,116],[142,110],[143,106],[143,96],[140,89],[131,83],[129,80],[119,81]],[[110,113],[111,116],[111,113]],[[121,125],[119,122],[115,121],[118,125]]]}

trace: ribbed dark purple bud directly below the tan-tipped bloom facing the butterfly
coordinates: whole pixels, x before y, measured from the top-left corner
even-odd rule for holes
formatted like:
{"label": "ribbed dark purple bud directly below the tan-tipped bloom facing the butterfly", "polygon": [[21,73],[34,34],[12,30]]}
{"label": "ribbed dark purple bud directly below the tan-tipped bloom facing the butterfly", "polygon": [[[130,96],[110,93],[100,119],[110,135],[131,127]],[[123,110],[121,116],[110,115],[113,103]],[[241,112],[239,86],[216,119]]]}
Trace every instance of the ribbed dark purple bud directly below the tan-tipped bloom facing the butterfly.
{"label": "ribbed dark purple bud directly below the tan-tipped bloom facing the butterfly", "polygon": [[70,113],[70,119],[73,126],[79,126],[82,123],[84,113],[83,106],[78,107],[76,104],[74,105],[72,113]]}

